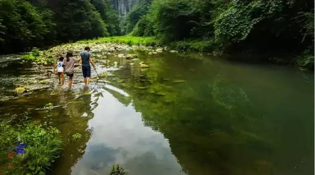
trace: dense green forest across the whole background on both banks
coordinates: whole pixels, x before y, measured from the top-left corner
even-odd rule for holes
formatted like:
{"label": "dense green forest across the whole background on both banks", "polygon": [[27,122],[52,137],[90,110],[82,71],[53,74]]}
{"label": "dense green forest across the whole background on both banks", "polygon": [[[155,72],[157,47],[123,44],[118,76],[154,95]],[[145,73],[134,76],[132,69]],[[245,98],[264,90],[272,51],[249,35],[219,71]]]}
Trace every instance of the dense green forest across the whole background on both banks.
{"label": "dense green forest across the whole background on both banks", "polygon": [[[109,0],[1,0],[0,9],[2,53],[126,34],[181,50],[313,53],[314,2],[306,0],[139,0],[124,16]],[[306,56],[300,64],[309,63]]]}

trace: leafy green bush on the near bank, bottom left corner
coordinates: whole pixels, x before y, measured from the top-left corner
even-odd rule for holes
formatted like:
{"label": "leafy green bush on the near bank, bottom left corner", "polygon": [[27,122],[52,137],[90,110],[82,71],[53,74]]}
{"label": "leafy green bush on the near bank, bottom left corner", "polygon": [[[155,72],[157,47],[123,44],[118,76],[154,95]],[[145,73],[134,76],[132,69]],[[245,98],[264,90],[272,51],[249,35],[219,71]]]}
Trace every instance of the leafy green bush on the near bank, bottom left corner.
{"label": "leafy green bush on the near bank, bottom left corner", "polygon": [[[17,154],[19,144],[27,144],[22,148],[25,154]],[[62,146],[60,131],[55,127],[0,123],[0,164],[5,174],[46,174]]]}

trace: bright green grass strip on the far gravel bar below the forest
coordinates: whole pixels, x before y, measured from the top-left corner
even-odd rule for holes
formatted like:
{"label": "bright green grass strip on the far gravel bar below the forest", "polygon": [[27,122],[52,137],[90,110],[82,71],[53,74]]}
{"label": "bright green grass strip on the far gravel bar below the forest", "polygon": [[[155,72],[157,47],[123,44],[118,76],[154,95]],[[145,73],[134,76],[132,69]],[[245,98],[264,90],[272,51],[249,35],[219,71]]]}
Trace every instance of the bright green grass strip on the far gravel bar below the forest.
{"label": "bright green grass strip on the far gravel bar below the forest", "polygon": [[98,39],[81,40],[76,43],[124,43],[126,45],[143,45],[143,46],[156,46],[161,45],[161,41],[156,37],[137,37],[137,36],[112,36],[112,37],[101,37]]}

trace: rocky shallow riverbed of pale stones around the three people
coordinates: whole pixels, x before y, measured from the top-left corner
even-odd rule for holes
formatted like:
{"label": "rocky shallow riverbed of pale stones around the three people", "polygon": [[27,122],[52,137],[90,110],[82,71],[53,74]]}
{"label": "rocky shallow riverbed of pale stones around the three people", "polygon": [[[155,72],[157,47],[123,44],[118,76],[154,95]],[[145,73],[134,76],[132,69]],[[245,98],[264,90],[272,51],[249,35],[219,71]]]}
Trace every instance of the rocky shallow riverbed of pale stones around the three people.
{"label": "rocky shallow riverbed of pale stones around the three people", "polygon": [[[0,57],[0,67],[7,72],[6,75],[0,75],[2,84],[0,85],[1,101],[20,98],[20,96],[34,93],[36,91],[45,91],[50,88],[57,88],[58,78],[52,73],[53,62],[47,63],[48,59],[57,59],[65,56],[66,52],[72,51],[75,57],[83,51],[85,46],[91,48],[93,59],[97,66],[98,74],[101,78],[107,75],[113,76],[110,72],[130,65],[138,69],[148,68],[140,55],[154,55],[163,52],[177,53],[169,51],[167,47],[146,47],[129,46],[119,43],[67,43],[53,47],[49,50],[39,51],[35,60],[25,60],[23,55],[3,55]],[[32,55],[33,53],[26,53]],[[22,59],[21,59],[22,58]],[[109,72],[109,73],[107,73]],[[74,83],[82,83],[80,64],[76,64]],[[92,71],[92,82],[96,78],[96,72]],[[66,88],[63,86],[63,88]]]}

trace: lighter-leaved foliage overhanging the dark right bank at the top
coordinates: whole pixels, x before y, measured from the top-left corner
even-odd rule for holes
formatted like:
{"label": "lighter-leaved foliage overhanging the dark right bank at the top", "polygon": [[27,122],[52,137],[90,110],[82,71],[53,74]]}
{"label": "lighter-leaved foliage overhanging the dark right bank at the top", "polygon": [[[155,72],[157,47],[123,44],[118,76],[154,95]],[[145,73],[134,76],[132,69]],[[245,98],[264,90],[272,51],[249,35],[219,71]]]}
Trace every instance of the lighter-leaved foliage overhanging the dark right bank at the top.
{"label": "lighter-leaved foliage overhanging the dark right bank at the top", "polygon": [[232,1],[229,8],[215,19],[218,40],[239,41],[247,38],[257,23],[283,9],[282,1]]}

